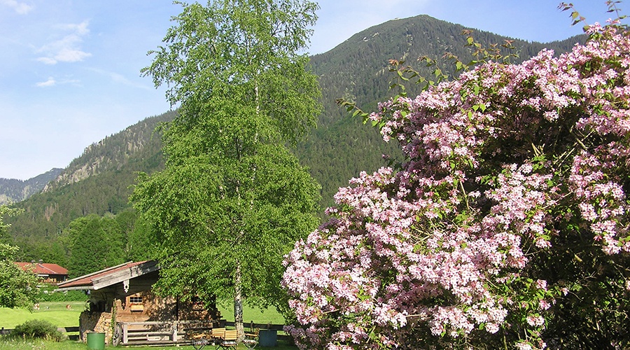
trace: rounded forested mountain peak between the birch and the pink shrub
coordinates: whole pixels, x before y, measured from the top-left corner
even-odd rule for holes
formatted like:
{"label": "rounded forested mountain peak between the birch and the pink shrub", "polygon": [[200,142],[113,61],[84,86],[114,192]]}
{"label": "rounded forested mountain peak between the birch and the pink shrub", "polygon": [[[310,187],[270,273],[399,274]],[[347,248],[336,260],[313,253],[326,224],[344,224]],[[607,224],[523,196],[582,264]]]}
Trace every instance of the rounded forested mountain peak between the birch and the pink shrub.
{"label": "rounded forested mountain peak between the birch and the pink shrub", "polygon": [[[463,29],[466,28],[428,15],[391,20],[311,57],[313,70],[320,77],[324,111],[318,130],[296,153],[320,181],[325,204],[330,203],[339,186],[346,186],[361,170],[372,172],[381,167],[384,164],[381,155],[399,154],[395,143],[385,144],[377,130],[349,118],[348,113],[335,104],[335,99],[352,99],[364,111],[376,111],[377,102],[393,95],[389,86],[395,76],[388,71],[389,59],[403,59],[424,76],[430,76],[435,67],[428,69],[418,62],[419,57],[427,56],[437,59],[442,71],[451,73],[453,65],[441,59],[445,52],[463,62],[472,60]],[[503,44],[506,39],[486,31],[473,31],[472,35],[486,47]],[[514,60],[518,62],[536,55],[542,48],[566,52],[577,41],[584,41],[584,37],[545,44],[514,40],[512,45],[516,49],[512,53],[519,55],[519,59]],[[409,96],[415,96],[420,87],[407,85]]]}

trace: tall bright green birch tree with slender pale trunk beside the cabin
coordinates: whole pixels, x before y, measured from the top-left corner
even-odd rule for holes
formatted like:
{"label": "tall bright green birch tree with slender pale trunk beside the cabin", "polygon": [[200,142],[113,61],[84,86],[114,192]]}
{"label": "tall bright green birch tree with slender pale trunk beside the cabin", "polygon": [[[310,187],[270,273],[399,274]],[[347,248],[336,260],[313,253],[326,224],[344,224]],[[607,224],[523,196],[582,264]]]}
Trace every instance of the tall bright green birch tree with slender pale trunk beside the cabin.
{"label": "tall bright green birch tree with slender pale trunk beside the cabin", "polygon": [[179,116],[164,127],[164,171],[134,206],[157,232],[162,293],[279,304],[283,254],[316,227],[319,187],[286,148],[314,126],[316,77],[300,54],[316,3],[183,4],[143,72]]}

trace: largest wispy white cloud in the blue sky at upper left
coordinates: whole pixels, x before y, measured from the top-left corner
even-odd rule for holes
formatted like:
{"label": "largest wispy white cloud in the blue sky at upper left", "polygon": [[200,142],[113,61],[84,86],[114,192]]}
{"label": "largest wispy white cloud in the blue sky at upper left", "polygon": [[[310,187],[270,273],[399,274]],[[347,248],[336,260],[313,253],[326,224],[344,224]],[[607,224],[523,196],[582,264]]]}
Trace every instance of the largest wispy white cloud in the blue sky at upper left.
{"label": "largest wispy white cloud in the blue sky at upper left", "polygon": [[57,62],[80,62],[92,56],[90,52],[85,52],[80,48],[83,36],[90,33],[90,29],[87,29],[88,24],[89,22],[83,21],[78,25],[59,25],[59,29],[72,31],[72,33],[43,45],[38,52],[44,52],[45,55],[38,57],[37,60],[44,64],[57,64]]}

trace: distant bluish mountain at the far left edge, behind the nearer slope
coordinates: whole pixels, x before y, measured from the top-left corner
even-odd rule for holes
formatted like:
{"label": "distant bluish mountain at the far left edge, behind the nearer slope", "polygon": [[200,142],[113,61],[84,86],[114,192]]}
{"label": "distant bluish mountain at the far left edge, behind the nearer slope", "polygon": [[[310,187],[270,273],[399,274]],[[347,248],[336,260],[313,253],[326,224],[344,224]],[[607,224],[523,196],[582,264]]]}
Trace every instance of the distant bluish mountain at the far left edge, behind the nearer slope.
{"label": "distant bluish mountain at the far left edge, behind the nearer slope", "polygon": [[56,179],[63,171],[64,169],[61,168],[53,168],[27,181],[0,179],[0,205],[21,202],[35,193],[40,193],[50,181]]}

